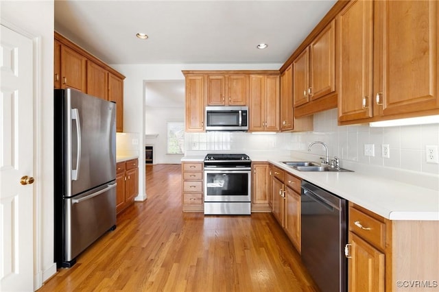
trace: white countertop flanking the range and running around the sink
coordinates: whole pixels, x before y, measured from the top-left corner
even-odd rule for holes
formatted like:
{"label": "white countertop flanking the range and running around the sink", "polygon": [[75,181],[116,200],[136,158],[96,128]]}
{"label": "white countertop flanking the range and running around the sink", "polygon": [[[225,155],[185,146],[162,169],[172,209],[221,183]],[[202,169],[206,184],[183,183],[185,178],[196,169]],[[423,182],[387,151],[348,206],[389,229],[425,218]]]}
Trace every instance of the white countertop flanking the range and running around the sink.
{"label": "white countertop flanking the range and running around the sink", "polygon": [[[390,220],[439,221],[439,191],[406,184],[379,175],[360,172],[297,171],[281,161],[305,161],[285,157],[256,157],[268,161],[302,180],[307,180],[335,195],[362,206]],[[204,156],[187,156],[182,161],[203,161]],[[307,160],[306,160],[307,161]]]}

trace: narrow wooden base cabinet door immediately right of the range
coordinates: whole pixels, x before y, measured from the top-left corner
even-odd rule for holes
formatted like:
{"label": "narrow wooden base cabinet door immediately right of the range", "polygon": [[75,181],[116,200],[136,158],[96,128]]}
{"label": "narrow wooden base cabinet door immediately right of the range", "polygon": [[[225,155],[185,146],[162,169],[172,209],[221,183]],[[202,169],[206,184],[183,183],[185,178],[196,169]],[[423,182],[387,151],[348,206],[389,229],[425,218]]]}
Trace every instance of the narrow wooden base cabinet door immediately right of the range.
{"label": "narrow wooden base cabinet door immediately right of the range", "polygon": [[[268,163],[254,163],[252,165],[252,210],[254,208],[268,208],[270,199],[270,166]],[[259,206],[258,206],[259,205]],[[254,207],[254,208],[253,208]]]}

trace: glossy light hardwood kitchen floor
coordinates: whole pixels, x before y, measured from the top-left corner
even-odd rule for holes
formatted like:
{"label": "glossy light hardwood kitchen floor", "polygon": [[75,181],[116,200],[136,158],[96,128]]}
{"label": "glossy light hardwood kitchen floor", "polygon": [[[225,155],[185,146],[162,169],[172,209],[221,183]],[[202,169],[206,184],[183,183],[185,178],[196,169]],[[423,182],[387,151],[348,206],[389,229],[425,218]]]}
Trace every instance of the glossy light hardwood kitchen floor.
{"label": "glossy light hardwood kitchen floor", "polygon": [[181,166],[146,167],[147,200],[38,291],[317,291],[269,213],[183,213]]}

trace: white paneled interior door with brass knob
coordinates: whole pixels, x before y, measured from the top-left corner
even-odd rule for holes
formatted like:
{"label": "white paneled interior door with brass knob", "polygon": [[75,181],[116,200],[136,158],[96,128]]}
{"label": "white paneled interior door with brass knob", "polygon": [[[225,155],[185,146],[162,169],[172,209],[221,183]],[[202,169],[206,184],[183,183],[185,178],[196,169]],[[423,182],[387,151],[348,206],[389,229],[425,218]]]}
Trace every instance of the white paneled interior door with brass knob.
{"label": "white paneled interior door with brass knob", "polygon": [[0,36],[0,291],[33,291],[33,45]]}

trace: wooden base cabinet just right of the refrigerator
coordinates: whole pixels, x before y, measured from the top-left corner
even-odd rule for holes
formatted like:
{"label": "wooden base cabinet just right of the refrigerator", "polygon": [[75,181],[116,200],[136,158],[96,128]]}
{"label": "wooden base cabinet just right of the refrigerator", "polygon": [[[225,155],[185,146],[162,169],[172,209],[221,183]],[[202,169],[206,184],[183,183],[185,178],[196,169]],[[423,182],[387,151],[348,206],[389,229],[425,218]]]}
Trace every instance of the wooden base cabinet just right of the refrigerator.
{"label": "wooden base cabinet just right of the refrigerator", "polygon": [[139,194],[139,160],[118,162],[116,165],[116,212],[134,203]]}

